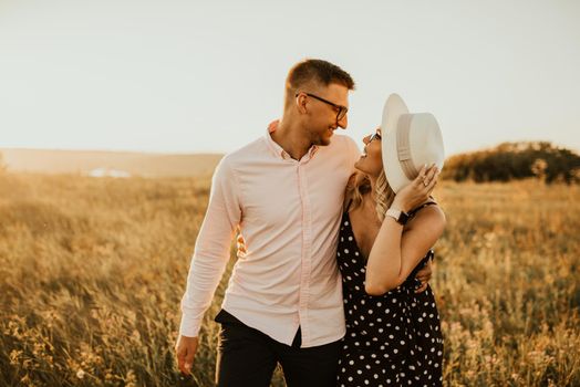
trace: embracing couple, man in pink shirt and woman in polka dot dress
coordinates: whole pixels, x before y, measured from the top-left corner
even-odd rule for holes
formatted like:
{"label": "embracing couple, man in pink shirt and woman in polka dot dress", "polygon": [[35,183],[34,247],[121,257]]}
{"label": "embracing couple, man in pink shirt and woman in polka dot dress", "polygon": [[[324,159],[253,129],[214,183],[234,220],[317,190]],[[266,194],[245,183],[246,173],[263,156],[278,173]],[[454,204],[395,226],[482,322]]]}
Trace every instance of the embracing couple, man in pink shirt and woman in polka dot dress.
{"label": "embracing couple, man in pink shirt and woman in polka dot dress", "polygon": [[191,372],[237,236],[216,316],[218,386],[269,386],[277,364],[289,386],[441,385],[443,341],[427,284],[445,224],[429,196],[438,169],[400,164],[390,133],[401,129],[413,148],[410,134],[436,122],[405,114],[394,95],[361,156],[352,139],[333,137],[346,128],[353,88],[332,63],[296,64],[282,118],[220,161],[182,301],[182,373]]}

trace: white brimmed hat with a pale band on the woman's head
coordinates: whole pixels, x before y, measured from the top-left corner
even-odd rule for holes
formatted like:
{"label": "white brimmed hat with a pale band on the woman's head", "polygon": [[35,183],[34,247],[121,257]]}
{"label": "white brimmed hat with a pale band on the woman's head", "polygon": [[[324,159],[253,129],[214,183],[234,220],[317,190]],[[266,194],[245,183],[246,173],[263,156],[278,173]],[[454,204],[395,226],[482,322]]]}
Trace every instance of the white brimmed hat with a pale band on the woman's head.
{"label": "white brimmed hat with a pale band on the woman's head", "polygon": [[383,167],[396,194],[415,179],[421,167],[435,163],[443,169],[445,151],[439,125],[431,113],[408,113],[397,94],[391,94],[383,108]]}

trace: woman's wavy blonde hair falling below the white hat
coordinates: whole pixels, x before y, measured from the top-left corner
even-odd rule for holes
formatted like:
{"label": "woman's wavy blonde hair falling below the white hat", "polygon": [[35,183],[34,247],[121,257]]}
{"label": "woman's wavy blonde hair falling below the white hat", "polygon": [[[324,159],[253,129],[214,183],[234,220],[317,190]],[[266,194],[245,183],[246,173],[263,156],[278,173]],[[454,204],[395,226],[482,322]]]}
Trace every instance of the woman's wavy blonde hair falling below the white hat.
{"label": "woman's wavy blonde hair falling below the white hat", "polygon": [[[351,197],[351,209],[355,209],[362,205],[363,196],[365,194],[369,194],[371,191],[371,181],[369,180],[369,177],[364,175],[361,171],[355,171],[350,180],[349,185],[346,186],[346,195]],[[395,192],[389,185],[389,181],[386,180],[386,176],[384,172],[384,169],[381,171],[381,175],[379,175],[379,178],[376,179],[376,186],[374,188],[374,192],[372,194],[372,198],[375,201],[375,210],[376,216],[379,217],[380,221],[383,221],[385,218],[385,212],[393,203],[393,200],[395,199]]]}

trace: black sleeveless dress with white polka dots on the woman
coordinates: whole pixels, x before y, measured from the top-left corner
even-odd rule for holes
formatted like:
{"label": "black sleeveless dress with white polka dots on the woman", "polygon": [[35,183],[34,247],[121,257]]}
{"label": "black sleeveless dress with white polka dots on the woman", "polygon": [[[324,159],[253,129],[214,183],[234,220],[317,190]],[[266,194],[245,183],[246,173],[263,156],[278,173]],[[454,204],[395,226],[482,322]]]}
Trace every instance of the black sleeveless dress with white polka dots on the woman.
{"label": "black sleeveless dress with white polka dots on the woman", "polygon": [[421,284],[415,273],[433,251],[401,286],[381,296],[369,295],[366,262],[345,212],[336,258],[346,320],[338,386],[442,386],[443,337],[435,299],[431,287],[414,292]]}

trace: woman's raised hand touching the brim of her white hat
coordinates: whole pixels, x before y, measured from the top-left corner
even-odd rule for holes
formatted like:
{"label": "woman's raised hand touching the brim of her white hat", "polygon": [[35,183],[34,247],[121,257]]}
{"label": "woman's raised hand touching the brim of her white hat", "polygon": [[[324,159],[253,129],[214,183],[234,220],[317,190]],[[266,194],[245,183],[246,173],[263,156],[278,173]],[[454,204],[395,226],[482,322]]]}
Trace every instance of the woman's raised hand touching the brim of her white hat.
{"label": "woman's raised hand touching the brim of her white hat", "polygon": [[438,175],[439,169],[435,164],[432,164],[428,168],[423,166],[418,176],[396,194],[392,207],[408,212],[427,201],[437,185]]}

